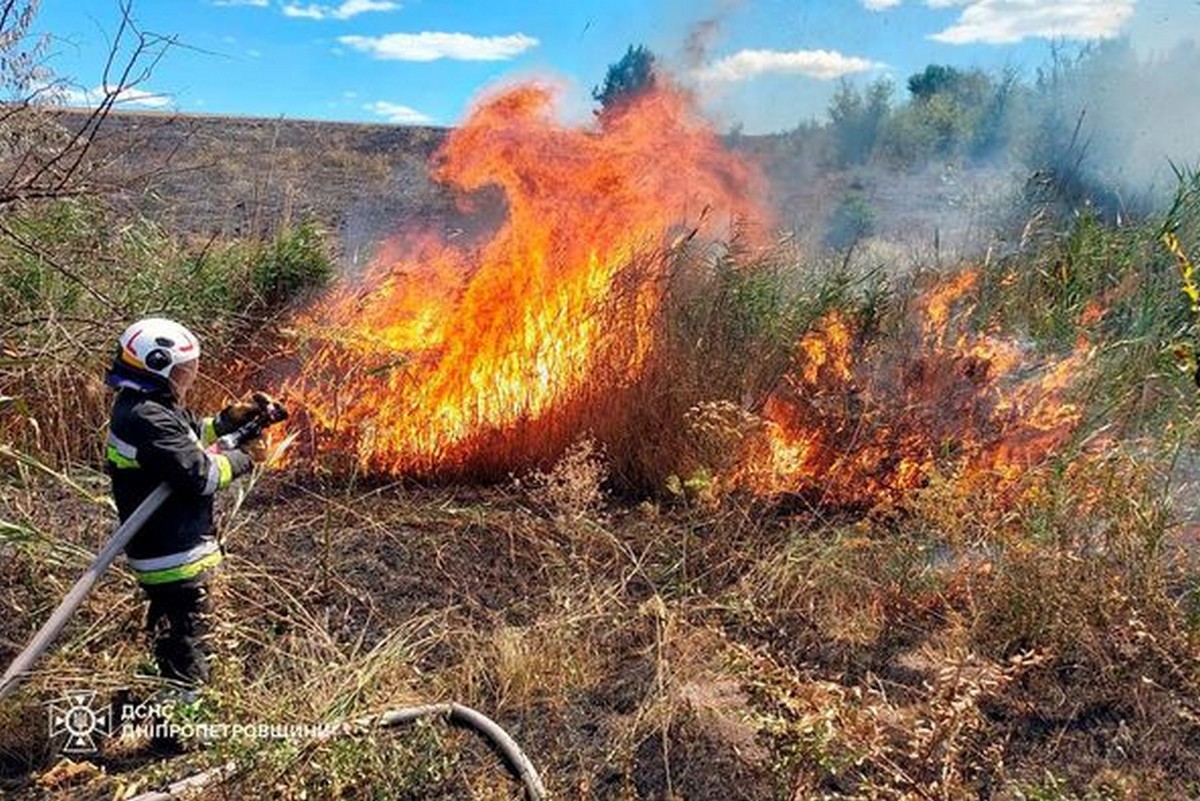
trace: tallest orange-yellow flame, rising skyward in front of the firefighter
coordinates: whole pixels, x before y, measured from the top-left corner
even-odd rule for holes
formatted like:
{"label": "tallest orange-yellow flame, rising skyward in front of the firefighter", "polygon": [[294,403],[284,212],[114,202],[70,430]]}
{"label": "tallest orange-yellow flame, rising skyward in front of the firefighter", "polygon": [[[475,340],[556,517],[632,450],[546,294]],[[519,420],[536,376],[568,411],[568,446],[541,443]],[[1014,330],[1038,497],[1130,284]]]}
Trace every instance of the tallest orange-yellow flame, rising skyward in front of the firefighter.
{"label": "tallest orange-yellow flame, rising skyward in front of the firefighter", "polygon": [[[498,186],[508,216],[478,251],[394,242],[359,287],[304,326],[319,349],[290,387],[328,448],[428,472],[497,440],[538,453],[538,423],[636,380],[653,345],[670,235],[762,218],[757,174],[680,92],[648,94],[594,128],[521,86],[482,102],[436,176]],[[719,233],[719,231],[714,231]]]}

